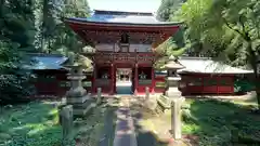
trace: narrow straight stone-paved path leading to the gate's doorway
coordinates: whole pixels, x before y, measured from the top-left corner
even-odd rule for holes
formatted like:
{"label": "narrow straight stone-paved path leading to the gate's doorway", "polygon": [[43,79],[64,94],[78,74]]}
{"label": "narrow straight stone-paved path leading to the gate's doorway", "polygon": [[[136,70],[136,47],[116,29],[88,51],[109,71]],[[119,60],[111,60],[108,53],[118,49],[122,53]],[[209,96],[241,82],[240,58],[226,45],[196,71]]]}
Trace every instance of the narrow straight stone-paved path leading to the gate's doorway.
{"label": "narrow straight stone-paved path leading to the gate's doorway", "polygon": [[121,97],[121,105],[117,110],[117,124],[113,146],[138,145],[129,104],[129,97]]}

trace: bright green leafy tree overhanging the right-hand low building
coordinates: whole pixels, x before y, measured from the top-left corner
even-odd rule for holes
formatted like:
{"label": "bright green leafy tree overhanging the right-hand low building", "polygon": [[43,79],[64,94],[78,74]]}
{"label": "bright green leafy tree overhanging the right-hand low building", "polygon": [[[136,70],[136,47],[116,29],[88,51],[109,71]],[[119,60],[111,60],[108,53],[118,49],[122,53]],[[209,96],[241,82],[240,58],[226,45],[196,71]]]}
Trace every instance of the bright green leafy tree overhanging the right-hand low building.
{"label": "bright green leafy tree overhanging the right-hand low building", "polygon": [[[260,51],[260,1],[188,0],[182,6],[182,21],[188,35],[203,49],[232,65],[250,65],[257,89],[260,88],[258,62]],[[260,109],[260,92],[257,90]]]}

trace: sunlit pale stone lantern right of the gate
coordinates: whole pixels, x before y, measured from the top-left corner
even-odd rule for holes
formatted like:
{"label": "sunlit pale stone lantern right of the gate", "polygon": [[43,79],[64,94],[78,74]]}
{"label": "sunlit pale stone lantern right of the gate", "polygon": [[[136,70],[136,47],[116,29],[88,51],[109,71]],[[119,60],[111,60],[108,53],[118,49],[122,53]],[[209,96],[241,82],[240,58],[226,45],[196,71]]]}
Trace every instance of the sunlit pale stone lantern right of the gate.
{"label": "sunlit pale stone lantern right of the gate", "polygon": [[174,56],[170,56],[168,63],[165,65],[167,69],[167,89],[165,95],[168,97],[180,97],[181,92],[178,89],[179,81],[181,77],[177,74],[178,69],[184,68],[181,64],[178,63],[178,59]]}

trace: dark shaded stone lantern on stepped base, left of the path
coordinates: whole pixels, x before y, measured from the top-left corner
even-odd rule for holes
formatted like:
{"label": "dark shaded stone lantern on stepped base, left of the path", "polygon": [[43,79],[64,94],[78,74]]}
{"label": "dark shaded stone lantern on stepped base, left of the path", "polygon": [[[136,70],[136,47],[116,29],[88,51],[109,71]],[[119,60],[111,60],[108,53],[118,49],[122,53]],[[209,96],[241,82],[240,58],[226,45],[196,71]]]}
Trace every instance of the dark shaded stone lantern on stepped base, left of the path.
{"label": "dark shaded stone lantern on stepped base, left of the path", "polygon": [[68,79],[72,81],[72,88],[66,94],[67,104],[73,105],[74,116],[83,116],[91,107],[90,95],[82,88],[81,81],[86,78],[82,74],[82,66],[68,66],[70,72]]}

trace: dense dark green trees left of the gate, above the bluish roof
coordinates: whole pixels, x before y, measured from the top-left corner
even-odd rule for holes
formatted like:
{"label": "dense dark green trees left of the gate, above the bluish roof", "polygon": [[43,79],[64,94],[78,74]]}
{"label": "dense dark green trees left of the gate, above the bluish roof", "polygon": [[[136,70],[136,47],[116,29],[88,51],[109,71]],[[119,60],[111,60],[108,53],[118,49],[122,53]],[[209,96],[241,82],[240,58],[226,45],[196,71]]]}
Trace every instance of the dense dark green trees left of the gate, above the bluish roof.
{"label": "dense dark green trees left of the gate, above the bluish roof", "polygon": [[0,1],[1,104],[14,104],[34,93],[31,74],[23,68],[32,63],[26,53],[68,55],[84,45],[63,17],[86,17],[88,10],[86,0]]}

